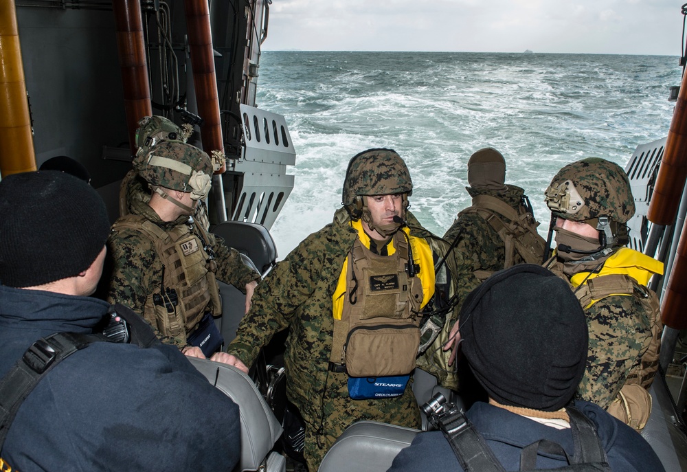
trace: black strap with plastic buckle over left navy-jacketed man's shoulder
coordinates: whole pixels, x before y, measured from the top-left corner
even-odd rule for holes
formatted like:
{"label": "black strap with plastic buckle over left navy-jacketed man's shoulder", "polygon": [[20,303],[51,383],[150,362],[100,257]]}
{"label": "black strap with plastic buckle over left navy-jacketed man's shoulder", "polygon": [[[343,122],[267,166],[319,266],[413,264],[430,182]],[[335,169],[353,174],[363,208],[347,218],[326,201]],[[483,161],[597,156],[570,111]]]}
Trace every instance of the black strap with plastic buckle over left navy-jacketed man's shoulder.
{"label": "black strap with plastic buckle over left navy-jacketed man's shoulder", "polygon": [[0,450],[19,407],[36,384],[60,361],[95,341],[107,341],[102,335],[55,333],[38,339],[0,381]]}

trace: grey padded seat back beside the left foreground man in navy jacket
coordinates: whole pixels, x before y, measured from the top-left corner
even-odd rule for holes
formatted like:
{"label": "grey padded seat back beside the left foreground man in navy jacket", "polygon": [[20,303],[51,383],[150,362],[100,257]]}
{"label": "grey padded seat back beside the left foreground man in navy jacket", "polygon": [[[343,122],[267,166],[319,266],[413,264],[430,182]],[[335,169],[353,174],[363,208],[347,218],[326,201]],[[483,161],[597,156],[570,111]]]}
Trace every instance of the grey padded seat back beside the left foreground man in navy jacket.
{"label": "grey padded seat back beside the left foreground man in navy jacket", "polygon": [[[240,470],[257,471],[282,434],[277,418],[250,377],[234,366],[208,359],[187,359],[210,383],[238,405],[241,417]],[[266,471],[286,470],[286,460],[278,453],[270,454],[268,462],[272,469],[264,469]]]}

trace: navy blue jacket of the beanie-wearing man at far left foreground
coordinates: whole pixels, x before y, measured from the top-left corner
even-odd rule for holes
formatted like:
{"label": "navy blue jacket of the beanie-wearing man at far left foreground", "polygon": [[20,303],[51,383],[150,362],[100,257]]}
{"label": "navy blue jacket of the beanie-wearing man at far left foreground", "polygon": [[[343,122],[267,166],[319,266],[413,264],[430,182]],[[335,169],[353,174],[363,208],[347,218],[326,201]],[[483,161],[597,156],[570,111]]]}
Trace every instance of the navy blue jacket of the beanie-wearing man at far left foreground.
{"label": "navy blue jacket of the beanie-wearing man at far left foreground", "polygon": [[[91,333],[108,309],[95,298],[0,286],[0,377],[36,339]],[[3,470],[22,472],[231,471],[238,406],[174,346],[96,342],[36,385],[0,455]]]}

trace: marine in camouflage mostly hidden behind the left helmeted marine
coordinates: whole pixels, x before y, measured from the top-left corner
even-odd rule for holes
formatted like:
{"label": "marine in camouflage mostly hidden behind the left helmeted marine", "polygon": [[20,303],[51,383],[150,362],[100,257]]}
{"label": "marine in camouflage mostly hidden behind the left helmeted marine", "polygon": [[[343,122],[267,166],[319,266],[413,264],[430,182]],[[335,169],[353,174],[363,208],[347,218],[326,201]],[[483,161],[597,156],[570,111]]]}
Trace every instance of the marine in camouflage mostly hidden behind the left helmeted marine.
{"label": "marine in camouflage mostly hidden behind the left helmeted marine", "polygon": [[[145,156],[150,148],[163,141],[186,142],[193,133],[190,124],[177,126],[164,116],[145,116],[138,122],[136,130],[136,145],[138,147],[133,159],[133,169],[129,170],[120,185],[120,216],[133,213],[137,202],[150,201],[150,186],[140,175],[139,171],[145,167]],[[210,219],[207,215],[207,205],[201,199],[196,205],[193,218],[205,231],[210,230]]]}

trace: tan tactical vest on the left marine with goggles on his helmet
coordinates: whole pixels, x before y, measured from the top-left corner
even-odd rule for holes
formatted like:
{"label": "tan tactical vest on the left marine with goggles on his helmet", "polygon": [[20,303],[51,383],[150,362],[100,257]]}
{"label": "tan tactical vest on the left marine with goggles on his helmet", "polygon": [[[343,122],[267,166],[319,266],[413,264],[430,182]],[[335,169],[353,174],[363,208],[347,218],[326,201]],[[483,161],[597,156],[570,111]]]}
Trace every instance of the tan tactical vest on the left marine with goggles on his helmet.
{"label": "tan tactical vest on the left marine with goggles on his helmet", "polygon": [[144,317],[161,335],[185,339],[207,311],[221,315],[217,265],[205,251],[207,234],[201,227],[196,226],[203,240],[188,225],[166,232],[144,216],[129,214],[113,225],[115,231],[125,228],[146,235],[162,262],[162,284],[148,294],[144,307]]}

